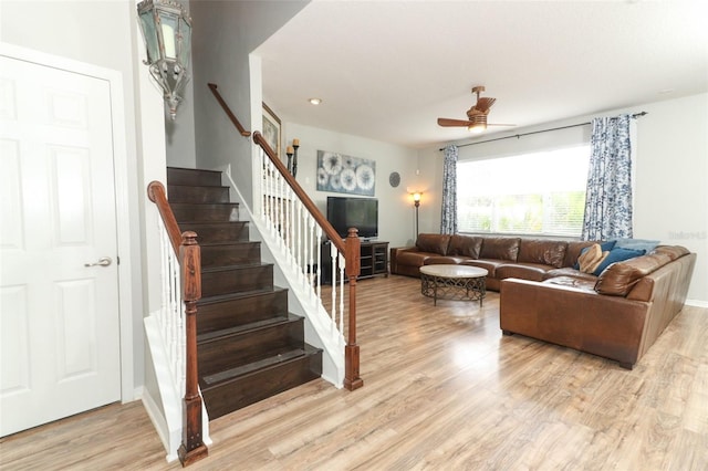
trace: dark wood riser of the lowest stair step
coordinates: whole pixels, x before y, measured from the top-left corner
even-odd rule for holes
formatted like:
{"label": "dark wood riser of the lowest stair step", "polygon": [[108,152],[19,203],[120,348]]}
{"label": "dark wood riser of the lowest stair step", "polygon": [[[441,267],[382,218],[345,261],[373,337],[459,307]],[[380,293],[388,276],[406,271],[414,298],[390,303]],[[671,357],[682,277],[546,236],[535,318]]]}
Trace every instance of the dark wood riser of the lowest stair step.
{"label": "dark wood riser of the lowest stair step", "polygon": [[202,389],[209,420],[322,376],[322,353]]}

